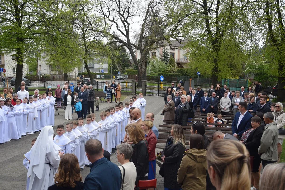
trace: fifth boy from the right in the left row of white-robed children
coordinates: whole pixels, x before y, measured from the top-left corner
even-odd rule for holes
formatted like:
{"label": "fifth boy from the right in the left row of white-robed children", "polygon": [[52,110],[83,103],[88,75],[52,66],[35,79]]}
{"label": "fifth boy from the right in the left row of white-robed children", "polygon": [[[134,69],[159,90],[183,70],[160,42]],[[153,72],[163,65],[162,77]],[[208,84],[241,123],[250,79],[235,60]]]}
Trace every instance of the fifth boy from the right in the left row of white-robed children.
{"label": "fifth boy from the right in the left row of white-robed children", "polygon": [[34,134],[36,132],[36,118],[38,117],[37,106],[34,103],[34,98],[29,98],[30,112],[28,113],[27,133]]}

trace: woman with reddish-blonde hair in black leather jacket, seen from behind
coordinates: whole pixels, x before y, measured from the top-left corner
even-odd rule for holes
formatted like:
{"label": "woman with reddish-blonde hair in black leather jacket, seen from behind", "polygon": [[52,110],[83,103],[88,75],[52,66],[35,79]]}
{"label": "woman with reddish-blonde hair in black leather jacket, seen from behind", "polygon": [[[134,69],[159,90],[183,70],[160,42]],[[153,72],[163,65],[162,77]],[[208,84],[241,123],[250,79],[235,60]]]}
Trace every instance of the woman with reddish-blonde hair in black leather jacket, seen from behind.
{"label": "woman with reddish-blonde hair in black leather jacket, seen from behind", "polygon": [[139,180],[148,180],[148,144],[141,125],[129,124],[127,128],[129,135],[127,142],[133,142],[131,145],[134,151],[130,162],[133,162],[137,168],[137,179],[135,183],[135,185],[137,185]]}

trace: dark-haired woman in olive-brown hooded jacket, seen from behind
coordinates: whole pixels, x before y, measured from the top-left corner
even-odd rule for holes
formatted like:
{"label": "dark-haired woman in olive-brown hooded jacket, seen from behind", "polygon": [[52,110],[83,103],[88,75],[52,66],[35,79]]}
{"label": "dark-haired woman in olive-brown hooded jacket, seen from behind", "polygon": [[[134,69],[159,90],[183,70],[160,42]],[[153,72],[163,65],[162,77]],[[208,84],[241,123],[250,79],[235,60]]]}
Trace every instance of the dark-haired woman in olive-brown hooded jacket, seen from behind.
{"label": "dark-haired woman in olive-brown hooded jacket, seen from behind", "polygon": [[203,136],[192,134],[190,150],[182,158],[177,175],[177,182],[182,184],[183,190],[206,189],[206,152]]}

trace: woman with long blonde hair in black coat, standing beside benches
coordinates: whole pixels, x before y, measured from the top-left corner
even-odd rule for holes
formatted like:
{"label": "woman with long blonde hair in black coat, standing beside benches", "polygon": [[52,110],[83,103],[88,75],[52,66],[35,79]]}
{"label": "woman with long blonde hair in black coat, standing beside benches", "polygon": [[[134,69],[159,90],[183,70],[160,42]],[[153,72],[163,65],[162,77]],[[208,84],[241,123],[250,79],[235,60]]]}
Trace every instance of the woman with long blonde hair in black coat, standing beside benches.
{"label": "woman with long blonde hair in black coat, standing beside benches", "polygon": [[164,189],[181,189],[181,185],[177,182],[177,172],[186,148],[182,126],[172,125],[170,135],[162,151],[161,160],[164,163],[159,174],[163,177]]}

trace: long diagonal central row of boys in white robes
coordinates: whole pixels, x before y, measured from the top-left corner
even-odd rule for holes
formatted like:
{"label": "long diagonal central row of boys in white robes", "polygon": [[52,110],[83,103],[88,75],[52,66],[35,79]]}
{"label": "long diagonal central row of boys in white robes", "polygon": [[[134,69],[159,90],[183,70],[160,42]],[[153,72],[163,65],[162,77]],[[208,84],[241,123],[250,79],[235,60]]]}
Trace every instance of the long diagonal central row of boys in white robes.
{"label": "long diagonal central row of boys in white robes", "polygon": [[[132,122],[129,115],[130,108],[135,107],[141,109],[141,116],[143,119],[145,106],[146,100],[143,98],[143,95],[140,94],[140,98],[138,100],[136,96],[133,96],[129,102],[125,102],[125,108],[123,108],[123,103],[121,102],[118,105],[115,105],[115,107],[110,107],[109,109],[102,111],[100,113],[101,120],[99,122],[95,121],[95,114],[92,113],[87,115],[85,125],[83,125],[83,118],[78,118],[78,120],[73,120],[72,122],[67,123],[65,128],[63,125],[58,125],[56,128],[57,135],[54,136],[53,140],[54,147],[56,147],[56,150],[58,150],[60,154],[75,154],[78,158],[80,168],[83,170],[84,166],[89,166],[91,164],[85,153],[85,143],[89,139],[98,139],[101,141],[104,150],[109,152],[110,155],[112,152],[115,153],[116,146],[123,143],[126,138],[125,126]],[[40,138],[40,136],[38,138]],[[32,140],[32,146],[36,140],[37,139]],[[23,164],[27,169],[30,165],[31,155],[32,149],[24,155],[25,159]],[[50,164],[53,162],[51,159],[52,158],[49,158]],[[54,163],[59,164],[58,156],[54,157]],[[44,180],[35,181],[34,177],[31,178],[32,176],[28,172],[27,189],[53,185],[54,181],[52,179],[54,174],[55,172],[53,171],[50,172],[49,175],[44,176],[46,177],[45,181],[48,181],[49,184],[34,185],[33,183],[47,182],[43,182]]]}

